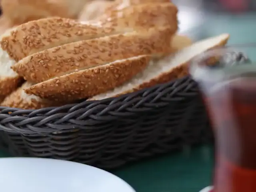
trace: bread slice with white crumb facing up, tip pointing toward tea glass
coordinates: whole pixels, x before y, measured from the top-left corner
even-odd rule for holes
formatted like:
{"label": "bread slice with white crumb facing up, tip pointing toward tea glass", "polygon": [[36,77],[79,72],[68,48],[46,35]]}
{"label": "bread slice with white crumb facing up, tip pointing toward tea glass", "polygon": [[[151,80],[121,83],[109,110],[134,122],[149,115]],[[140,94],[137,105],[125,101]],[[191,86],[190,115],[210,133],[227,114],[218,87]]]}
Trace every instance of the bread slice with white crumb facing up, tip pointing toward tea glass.
{"label": "bread slice with white crumb facing up, tip pointing toward tea glass", "polygon": [[105,98],[116,97],[143,88],[148,88],[156,84],[166,83],[170,80],[175,80],[176,78],[181,78],[188,74],[188,64],[195,56],[202,54],[209,49],[224,46],[227,43],[228,38],[229,34],[221,34],[219,36],[201,40],[180,50],[173,56],[169,56],[157,62],[150,62],[145,70],[122,86],[98,94],[89,100],[102,100]]}

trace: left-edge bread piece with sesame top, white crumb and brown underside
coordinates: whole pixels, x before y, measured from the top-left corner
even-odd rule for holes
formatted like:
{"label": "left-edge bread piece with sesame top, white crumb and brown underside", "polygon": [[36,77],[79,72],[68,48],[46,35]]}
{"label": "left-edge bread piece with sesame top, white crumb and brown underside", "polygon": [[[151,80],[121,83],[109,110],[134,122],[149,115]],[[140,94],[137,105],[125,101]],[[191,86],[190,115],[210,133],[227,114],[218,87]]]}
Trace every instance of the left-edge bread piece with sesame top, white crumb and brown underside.
{"label": "left-edge bread piece with sesame top, white crumb and brown underside", "polygon": [[6,31],[0,37],[0,96],[16,90],[22,80],[10,68],[22,58],[70,42],[117,33],[113,28],[81,24],[65,18],[44,18]]}

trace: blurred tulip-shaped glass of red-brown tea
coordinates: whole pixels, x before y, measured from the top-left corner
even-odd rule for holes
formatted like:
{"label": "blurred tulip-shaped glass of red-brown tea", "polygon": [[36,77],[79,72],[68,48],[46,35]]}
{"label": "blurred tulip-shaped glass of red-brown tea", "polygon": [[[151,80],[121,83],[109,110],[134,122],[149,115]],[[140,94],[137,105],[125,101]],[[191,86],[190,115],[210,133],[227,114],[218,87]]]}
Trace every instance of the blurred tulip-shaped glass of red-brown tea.
{"label": "blurred tulip-shaped glass of red-brown tea", "polygon": [[214,129],[214,192],[256,192],[256,64],[246,54],[210,50],[190,66]]}

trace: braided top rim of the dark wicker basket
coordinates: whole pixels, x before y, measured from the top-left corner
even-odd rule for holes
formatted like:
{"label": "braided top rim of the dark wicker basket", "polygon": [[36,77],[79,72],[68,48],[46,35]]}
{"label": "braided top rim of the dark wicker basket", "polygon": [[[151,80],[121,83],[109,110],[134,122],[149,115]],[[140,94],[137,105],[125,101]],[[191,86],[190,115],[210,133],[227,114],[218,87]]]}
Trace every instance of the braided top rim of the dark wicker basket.
{"label": "braided top rim of the dark wicker basket", "polygon": [[[175,91],[173,91],[175,90]],[[168,95],[172,92],[172,95]],[[186,94],[186,95],[184,95]],[[116,98],[96,101],[83,101],[60,107],[38,110],[22,110],[0,106],[0,130],[22,134],[58,133],[95,127],[154,108],[165,107],[185,96],[196,96],[196,82],[189,76]]]}

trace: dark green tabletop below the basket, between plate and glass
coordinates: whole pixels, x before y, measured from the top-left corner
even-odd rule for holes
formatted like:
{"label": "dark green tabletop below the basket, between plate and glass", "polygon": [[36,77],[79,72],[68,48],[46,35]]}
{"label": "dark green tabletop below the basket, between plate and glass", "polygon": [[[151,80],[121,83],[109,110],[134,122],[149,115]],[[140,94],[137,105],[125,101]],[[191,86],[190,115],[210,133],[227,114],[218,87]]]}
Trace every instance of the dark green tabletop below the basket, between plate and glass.
{"label": "dark green tabletop below the basket, between plate and glass", "polygon": [[[0,152],[0,157],[9,155]],[[200,146],[141,160],[112,173],[128,182],[136,192],[199,192],[210,184],[212,159],[211,146]]]}

